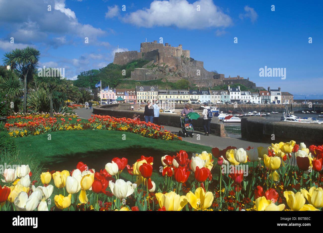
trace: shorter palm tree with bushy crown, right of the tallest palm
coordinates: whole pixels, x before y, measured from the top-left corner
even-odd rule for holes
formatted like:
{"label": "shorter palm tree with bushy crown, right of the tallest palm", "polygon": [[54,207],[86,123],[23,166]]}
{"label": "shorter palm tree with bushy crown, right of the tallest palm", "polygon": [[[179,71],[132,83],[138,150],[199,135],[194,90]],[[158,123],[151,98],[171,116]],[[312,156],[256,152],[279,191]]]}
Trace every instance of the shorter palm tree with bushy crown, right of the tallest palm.
{"label": "shorter palm tree with bushy crown, right of the tallest palm", "polygon": [[[53,68],[46,68],[52,70]],[[36,76],[36,85],[43,87],[46,95],[49,99],[49,109],[50,109],[50,116],[54,117],[54,112],[53,112],[53,93],[55,89],[57,88],[62,88],[64,86],[64,81],[60,79],[60,74],[57,72],[56,76],[54,74],[51,74],[53,76],[47,76],[47,73],[45,75],[45,70],[40,70],[42,75],[38,74]],[[47,77],[46,77],[47,76]]]}

